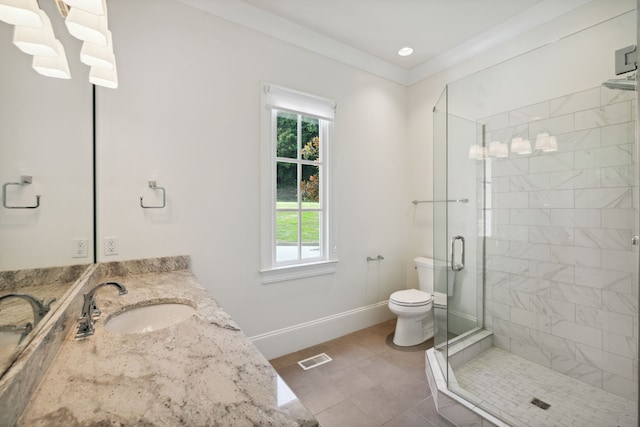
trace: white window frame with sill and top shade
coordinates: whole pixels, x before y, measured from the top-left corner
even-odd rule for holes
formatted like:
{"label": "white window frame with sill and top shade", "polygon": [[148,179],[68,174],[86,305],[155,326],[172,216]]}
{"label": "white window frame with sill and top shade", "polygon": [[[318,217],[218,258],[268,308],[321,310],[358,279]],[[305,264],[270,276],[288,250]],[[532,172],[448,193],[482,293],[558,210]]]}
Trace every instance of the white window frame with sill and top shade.
{"label": "white window frame with sill and top shade", "polygon": [[[331,145],[335,102],[281,86],[262,84],[261,132],[261,255],[262,283],[281,282],[304,277],[331,274],[336,270],[337,245],[332,203],[333,174]],[[276,262],[276,111],[286,111],[320,119],[319,137],[322,170],[320,192],[323,202],[323,224],[320,236],[321,256]],[[308,161],[298,160],[301,164]],[[299,239],[301,237],[299,236]],[[299,242],[300,243],[300,242]]]}

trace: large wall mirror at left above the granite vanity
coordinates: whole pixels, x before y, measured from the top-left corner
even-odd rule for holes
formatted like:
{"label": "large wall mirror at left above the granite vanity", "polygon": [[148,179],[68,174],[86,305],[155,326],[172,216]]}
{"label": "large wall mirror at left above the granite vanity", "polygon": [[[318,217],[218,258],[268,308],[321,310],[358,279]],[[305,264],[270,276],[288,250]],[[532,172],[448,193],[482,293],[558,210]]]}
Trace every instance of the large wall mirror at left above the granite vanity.
{"label": "large wall mirror at left above the granite vanity", "polygon": [[69,80],[38,74],[0,21],[0,377],[94,261],[93,89],[80,41],[54,2],[41,7]]}

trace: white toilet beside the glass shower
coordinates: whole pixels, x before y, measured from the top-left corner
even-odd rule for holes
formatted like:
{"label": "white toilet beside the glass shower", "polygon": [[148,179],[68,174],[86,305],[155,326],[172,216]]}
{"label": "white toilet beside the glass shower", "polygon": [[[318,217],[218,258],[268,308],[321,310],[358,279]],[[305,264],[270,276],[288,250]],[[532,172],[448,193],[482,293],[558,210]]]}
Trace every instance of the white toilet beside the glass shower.
{"label": "white toilet beside the glass shower", "polygon": [[[389,310],[398,316],[393,343],[400,347],[422,344],[433,337],[435,333],[433,320],[434,263],[432,259],[424,257],[415,258],[413,261],[418,270],[420,290],[405,289],[394,292],[389,297]],[[446,267],[438,266],[437,269],[438,278],[447,277]],[[449,296],[453,295],[453,276],[454,274],[448,276],[447,294]],[[446,301],[446,295],[439,294],[435,297],[437,299],[445,298]]]}

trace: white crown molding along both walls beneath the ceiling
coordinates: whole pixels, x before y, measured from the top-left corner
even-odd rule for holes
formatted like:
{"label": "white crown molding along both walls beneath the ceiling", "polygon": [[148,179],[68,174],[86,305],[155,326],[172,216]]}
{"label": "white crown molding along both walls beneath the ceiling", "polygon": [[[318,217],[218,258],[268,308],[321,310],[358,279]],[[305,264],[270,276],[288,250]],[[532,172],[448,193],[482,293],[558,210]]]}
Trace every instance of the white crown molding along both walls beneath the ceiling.
{"label": "white crown molding along both walls beneath the ceiling", "polygon": [[635,7],[635,1],[632,0],[616,4],[607,0],[544,0],[444,54],[407,70],[240,0],[177,1],[404,86],[413,85],[476,57],[576,9],[586,9],[581,19],[573,20],[571,25],[553,33],[537,35],[535,40],[512,49],[510,55],[525,53]]}

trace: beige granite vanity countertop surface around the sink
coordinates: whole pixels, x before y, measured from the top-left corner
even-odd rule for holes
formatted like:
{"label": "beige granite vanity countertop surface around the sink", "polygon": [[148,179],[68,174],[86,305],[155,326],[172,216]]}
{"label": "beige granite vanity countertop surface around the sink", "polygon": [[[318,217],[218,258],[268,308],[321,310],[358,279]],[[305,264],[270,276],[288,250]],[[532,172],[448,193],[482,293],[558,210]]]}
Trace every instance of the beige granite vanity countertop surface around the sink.
{"label": "beige granite vanity countertop surface around the sink", "polygon": [[[269,362],[190,270],[109,276],[93,336],[70,334],[19,426],[317,426]],[[181,302],[188,320],[143,334],[104,327],[125,308]]]}

